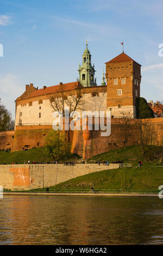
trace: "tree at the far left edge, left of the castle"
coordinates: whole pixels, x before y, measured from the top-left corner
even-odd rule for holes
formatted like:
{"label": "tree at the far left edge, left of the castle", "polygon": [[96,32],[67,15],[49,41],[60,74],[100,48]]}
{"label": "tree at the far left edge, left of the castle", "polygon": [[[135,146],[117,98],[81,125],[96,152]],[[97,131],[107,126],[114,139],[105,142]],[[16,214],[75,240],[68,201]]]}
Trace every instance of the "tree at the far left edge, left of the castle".
{"label": "tree at the far left edge, left of the castle", "polygon": [[11,113],[1,104],[0,99],[0,131],[14,130],[15,122],[11,118]]}

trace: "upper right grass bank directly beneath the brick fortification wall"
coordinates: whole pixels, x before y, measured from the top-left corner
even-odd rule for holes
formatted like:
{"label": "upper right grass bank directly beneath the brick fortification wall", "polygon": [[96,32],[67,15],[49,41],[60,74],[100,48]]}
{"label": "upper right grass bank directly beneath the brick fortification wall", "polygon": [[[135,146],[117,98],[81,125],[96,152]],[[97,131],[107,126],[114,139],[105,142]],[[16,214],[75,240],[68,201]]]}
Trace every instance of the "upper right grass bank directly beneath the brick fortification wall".
{"label": "upper right grass bank directly beneath the brick fortification wall", "polygon": [[[145,165],[163,162],[163,146],[146,146],[146,157],[142,154],[140,145],[134,145],[128,148],[121,148],[117,150],[110,150],[108,152],[91,157],[87,162],[96,161],[123,161],[124,163],[132,163],[137,165],[141,160]],[[150,161],[150,158],[152,161]]]}

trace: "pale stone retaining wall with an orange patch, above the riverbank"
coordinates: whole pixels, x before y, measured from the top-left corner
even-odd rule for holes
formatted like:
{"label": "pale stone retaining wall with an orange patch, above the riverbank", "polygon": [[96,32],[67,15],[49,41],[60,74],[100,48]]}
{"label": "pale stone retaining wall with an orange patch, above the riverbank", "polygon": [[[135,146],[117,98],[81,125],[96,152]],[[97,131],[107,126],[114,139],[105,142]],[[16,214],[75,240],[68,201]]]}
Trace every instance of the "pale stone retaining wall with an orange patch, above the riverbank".
{"label": "pale stone retaining wall with an orange patch, above the riverbank", "polygon": [[0,166],[0,186],[11,190],[30,190],[54,186],[61,182],[101,170],[118,168],[119,164],[16,164]]}

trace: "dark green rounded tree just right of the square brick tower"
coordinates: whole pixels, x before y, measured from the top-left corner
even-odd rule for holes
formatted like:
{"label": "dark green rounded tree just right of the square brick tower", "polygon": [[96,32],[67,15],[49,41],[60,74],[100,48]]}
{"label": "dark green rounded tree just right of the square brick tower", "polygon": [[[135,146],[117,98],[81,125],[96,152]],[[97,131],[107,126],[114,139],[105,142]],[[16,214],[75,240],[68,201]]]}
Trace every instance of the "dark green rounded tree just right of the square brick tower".
{"label": "dark green rounded tree just right of the square brick tower", "polygon": [[136,118],[154,118],[152,108],[148,106],[146,99],[144,99],[143,97],[136,98]]}

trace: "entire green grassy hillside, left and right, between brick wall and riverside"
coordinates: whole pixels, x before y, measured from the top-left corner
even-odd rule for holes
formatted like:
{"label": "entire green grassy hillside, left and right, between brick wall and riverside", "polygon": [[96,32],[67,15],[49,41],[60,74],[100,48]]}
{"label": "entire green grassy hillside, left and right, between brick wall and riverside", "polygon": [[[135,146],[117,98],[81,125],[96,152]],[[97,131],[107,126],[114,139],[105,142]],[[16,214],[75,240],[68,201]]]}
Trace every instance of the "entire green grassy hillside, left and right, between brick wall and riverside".
{"label": "entire green grassy hillside, left and right, between brick wall and riverside", "polygon": [[[153,154],[153,162],[146,162],[142,156],[139,146],[129,147],[127,149],[111,150],[109,152],[99,154],[92,157],[89,161],[96,162],[97,160],[123,160],[124,162],[131,162],[133,166],[137,166],[137,161],[140,159],[143,161],[143,167],[141,168],[127,168],[127,188],[135,190],[157,190],[159,185],[163,185],[163,166],[161,162],[163,147],[158,147],[156,154]],[[18,162],[24,163],[24,161],[50,161],[51,157],[45,154],[45,150],[42,148],[30,149],[27,151],[17,151],[13,153],[5,153],[0,151],[0,163]],[[156,165],[156,162],[160,162],[161,167],[152,167]],[[72,167],[73,168],[73,167]],[[76,179],[72,179],[61,184],[58,184],[53,188],[88,188],[94,187],[95,189],[124,189],[125,188],[125,169],[119,168],[114,170],[104,170],[102,172],[96,172],[80,176]]]}

